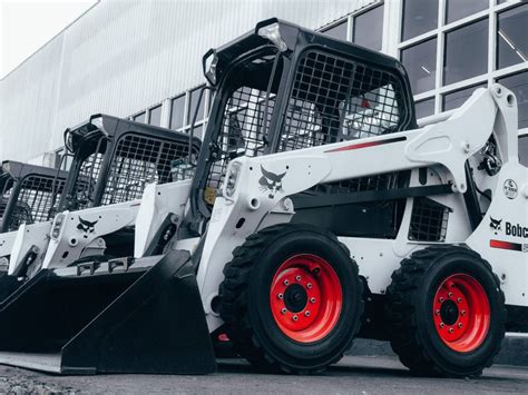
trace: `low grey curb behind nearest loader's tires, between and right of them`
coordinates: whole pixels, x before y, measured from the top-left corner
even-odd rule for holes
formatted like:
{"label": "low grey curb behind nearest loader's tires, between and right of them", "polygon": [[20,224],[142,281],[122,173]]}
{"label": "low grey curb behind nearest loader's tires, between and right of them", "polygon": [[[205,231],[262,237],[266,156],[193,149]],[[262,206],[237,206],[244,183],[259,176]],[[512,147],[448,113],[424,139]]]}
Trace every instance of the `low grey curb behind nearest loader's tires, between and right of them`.
{"label": "low grey curb behind nearest loader's tires, between and right of them", "polygon": [[[354,339],[352,347],[346,354],[366,356],[389,355],[397,357],[389,342],[366,338]],[[528,366],[528,334],[507,333],[499,355],[495,358],[495,364]]]}

